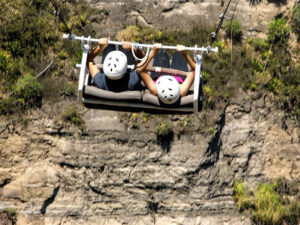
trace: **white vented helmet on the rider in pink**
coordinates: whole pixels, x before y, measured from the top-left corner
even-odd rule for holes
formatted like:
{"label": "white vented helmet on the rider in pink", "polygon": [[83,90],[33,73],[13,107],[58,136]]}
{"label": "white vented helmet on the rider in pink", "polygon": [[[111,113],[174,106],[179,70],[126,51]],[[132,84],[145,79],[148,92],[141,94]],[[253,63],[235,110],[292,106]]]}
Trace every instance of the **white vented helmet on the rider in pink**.
{"label": "white vented helmet on the rider in pink", "polygon": [[156,81],[156,92],[163,103],[173,104],[180,96],[179,83],[172,76],[161,76]]}

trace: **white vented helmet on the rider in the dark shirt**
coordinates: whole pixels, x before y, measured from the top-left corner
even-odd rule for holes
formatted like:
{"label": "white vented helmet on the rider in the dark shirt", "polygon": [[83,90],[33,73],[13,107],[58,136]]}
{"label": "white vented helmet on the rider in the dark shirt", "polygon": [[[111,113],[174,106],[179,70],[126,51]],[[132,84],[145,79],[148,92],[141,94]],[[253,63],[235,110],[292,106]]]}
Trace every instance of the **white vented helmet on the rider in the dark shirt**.
{"label": "white vented helmet on the rider in the dark shirt", "polygon": [[121,79],[127,70],[127,57],[121,51],[112,51],[107,54],[103,63],[103,71],[111,80]]}

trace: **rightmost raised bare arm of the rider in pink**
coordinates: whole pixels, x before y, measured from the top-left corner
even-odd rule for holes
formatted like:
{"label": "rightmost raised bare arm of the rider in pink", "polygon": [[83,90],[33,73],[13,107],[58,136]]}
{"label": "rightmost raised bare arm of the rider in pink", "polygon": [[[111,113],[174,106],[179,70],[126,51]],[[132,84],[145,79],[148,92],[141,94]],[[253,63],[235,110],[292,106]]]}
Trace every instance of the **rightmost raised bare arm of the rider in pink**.
{"label": "rightmost raised bare arm of the rider in pink", "polygon": [[194,60],[186,53],[185,46],[183,45],[177,45],[177,51],[180,52],[180,54],[184,57],[186,62],[191,67],[191,71],[188,73],[187,77],[183,81],[183,83],[180,85],[180,96],[183,97],[187,95],[190,87],[192,86],[195,78],[195,68],[196,64]]}

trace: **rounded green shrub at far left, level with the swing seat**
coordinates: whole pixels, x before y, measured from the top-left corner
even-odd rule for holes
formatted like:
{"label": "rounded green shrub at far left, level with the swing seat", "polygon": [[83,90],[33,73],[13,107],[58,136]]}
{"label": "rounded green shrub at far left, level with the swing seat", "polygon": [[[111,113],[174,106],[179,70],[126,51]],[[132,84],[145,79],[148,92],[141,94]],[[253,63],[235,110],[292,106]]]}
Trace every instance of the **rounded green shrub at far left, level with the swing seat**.
{"label": "rounded green shrub at far left, level with the swing seat", "polygon": [[24,107],[41,106],[42,92],[37,79],[26,74],[20,77],[12,87],[13,96],[20,102],[24,102]]}

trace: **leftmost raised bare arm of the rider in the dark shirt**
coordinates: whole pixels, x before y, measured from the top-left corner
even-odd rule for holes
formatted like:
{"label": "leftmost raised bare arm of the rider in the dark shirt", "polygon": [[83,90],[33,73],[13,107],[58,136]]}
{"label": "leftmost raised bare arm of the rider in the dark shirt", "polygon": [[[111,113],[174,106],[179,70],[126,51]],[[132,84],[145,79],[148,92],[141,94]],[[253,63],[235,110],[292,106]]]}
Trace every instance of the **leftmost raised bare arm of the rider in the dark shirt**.
{"label": "leftmost raised bare arm of the rider in the dark shirt", "polygon": [[107,46],[108,39],[107,38],[101,38],[98,42],[98,45],[89,50],[88,56],[87,56],[87,67],[90,72],[90,75],[92,78],[96,75],[96,73],[100,72],[96,64],[94,63],[94,58],[101,52],[103,49]]}

